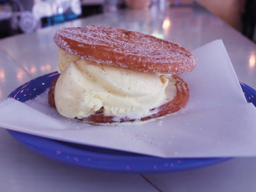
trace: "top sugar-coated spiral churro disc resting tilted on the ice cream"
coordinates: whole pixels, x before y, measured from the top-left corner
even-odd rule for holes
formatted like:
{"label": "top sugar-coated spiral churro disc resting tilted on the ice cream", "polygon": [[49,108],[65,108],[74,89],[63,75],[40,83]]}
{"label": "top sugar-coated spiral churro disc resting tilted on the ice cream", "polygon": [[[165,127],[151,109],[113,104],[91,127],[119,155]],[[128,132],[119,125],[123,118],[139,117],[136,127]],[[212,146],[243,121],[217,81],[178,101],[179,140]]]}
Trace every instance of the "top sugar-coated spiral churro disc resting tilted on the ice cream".
{"label": "top sugar-coated spiral churro disc resting tilted on the ice cream", "polygon": [[196,57],[180,45],[114,27],[64,28],[56,31],[54,42],[81,59],[145,72],[184,74],[197,64]]}

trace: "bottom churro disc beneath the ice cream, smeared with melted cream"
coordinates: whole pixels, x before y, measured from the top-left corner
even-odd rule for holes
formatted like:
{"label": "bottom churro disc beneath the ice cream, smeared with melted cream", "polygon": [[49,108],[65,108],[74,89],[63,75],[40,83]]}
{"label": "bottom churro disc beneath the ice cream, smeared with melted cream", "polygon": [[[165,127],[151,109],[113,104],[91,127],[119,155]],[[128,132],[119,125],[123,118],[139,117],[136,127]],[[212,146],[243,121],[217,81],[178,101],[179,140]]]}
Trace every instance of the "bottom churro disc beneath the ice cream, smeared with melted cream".
{"label": "bottom churro disc beneath the ice cream, smeared with melted cream", "polygon": [[[133,123],[144,123],[145,121],[157,121],[162,118],[172,116],[177,114],[182,109],[185,108],[185,105],[189,99],[189,89],[187,83],[184,82],[179,76],[172,75],[173,79],[175,80],[175,86],[177,90],[177,94],[172,99],[157,108],[150,109],[153,112],[151,116],[143,117],[140,119],[129,118],[129,114],[126,117],[118,118],[117,116],[105,116],[104,109],[100,109],[88,117],[84,118],[73,118],[72,120],[79,121],[82,123],[92,124],[92,125],[109,125],[109,126],[116,126],[116,125],[124,125],[124,124],[131,124]],[[48,101],[49,105],[56,109],[55,100],[54,100],[54,91],[55,85],[57,82],[57,76],[52,84],[50,85],[49,94],[48,94]],[[154,113],[155,112],[155,113]]]}

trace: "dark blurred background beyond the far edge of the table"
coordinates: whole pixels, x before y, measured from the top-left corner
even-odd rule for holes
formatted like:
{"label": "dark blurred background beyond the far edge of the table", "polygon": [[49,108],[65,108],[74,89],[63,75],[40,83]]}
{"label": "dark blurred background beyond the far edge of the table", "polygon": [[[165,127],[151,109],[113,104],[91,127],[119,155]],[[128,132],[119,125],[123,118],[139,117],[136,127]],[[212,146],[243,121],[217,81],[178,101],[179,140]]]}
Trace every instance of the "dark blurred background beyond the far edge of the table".
{"label": "dark blurred background beyond the far edge of the table", "polygon": [[0,38],[117,9],[203,6],[256,41],[256,0],[0,0]]}

